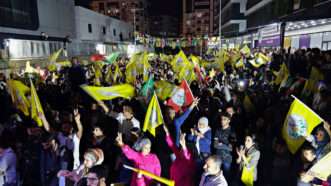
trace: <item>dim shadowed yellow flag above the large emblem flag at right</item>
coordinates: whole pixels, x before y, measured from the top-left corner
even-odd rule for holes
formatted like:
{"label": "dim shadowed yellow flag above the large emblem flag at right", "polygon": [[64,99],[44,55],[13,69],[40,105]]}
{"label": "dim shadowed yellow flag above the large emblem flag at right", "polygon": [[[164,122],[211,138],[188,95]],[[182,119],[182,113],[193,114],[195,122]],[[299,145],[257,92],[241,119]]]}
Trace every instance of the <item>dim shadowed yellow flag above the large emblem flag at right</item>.
{"label": "dim shadowed yellow flag above the large emblem flag at right", "polygon": [[310,71],[309,79],[306,81],[302,93],[307,95],[309,95],[310,93],[316,93],[317,83],[318,81],[321,81],[323,79],[324,79],[323,74],[316,67],[312,67]]}

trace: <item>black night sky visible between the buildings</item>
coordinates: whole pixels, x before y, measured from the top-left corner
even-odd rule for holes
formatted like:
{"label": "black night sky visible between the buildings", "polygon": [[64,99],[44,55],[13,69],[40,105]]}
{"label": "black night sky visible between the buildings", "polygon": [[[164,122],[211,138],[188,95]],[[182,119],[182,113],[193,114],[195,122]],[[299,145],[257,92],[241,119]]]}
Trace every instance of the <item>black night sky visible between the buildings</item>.
{"label": "black night sky visible between the buildings", "polygon": [[[76,5],[88,8],[91,0],[75,0]],[[151,2],[151,15],[180,16],[182,0],[149,0]]]}

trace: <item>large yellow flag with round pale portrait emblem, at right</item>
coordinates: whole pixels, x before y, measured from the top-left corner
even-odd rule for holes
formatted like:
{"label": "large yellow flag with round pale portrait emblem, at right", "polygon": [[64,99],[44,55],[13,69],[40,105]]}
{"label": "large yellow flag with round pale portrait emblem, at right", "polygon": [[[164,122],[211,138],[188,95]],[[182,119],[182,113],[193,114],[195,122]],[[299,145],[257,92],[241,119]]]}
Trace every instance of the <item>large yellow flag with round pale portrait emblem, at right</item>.
{"label": "large yellow flag with round pale portrait emblem, at right", "polygon": [[323,121],[307,105],[295,98],[283,125],[283,138],[292,154],[305,141],[303,136],[309,135],[313,129]]}

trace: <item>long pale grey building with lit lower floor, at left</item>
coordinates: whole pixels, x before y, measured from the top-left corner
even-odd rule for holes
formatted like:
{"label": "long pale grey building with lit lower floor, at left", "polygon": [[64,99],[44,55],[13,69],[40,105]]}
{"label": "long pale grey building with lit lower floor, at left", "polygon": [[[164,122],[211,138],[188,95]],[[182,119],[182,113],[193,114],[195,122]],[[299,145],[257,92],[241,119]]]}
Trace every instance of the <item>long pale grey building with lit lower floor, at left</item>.
{"label": "long pale grey building with lit lower floor, at left", "polygon": [[45,61],[60,48],[67,57],[124,52],[132,41],[131,24],[75,7],[73,0],[7,2],[0,4],[0,58],[10,62]]}

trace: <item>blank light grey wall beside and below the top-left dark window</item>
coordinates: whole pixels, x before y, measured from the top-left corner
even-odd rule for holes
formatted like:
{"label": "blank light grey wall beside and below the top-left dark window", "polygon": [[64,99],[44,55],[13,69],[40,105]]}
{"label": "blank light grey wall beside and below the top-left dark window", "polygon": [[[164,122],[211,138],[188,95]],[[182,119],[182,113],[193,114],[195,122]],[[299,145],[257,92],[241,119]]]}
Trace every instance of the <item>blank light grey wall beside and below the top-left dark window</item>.
{"label": "blank light grey wall beside and below the top-left dark window", "polygon": [[0,27],[0,32],[40,36],[45,32],[50,37],[75,38],[75,3],[74,0],[38,0],[39,28],[23,30]]}

